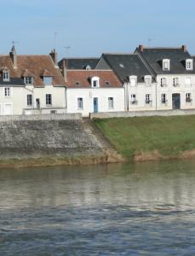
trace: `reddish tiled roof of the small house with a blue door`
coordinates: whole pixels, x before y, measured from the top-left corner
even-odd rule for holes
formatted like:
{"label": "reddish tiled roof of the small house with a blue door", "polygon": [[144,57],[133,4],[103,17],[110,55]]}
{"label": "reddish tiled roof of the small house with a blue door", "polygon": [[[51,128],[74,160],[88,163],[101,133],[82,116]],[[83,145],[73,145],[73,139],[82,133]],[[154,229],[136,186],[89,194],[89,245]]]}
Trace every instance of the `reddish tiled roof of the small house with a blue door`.
{"label": "reddish tiled roof of the small house with a blue door", "polygon": [[68,70],[67,88],[91,88],[91,78],[100,78],[100,88],[123,88],[112,70]]}

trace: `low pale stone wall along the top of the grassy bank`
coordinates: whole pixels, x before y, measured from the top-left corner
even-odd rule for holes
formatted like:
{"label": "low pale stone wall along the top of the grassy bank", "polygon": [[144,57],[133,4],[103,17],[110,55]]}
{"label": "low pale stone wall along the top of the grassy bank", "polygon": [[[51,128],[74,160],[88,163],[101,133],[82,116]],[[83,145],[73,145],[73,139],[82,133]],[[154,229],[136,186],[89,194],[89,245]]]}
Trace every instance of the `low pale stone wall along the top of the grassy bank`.
{"label": "low pale stone wall along the top of the grassy bank", "polygon": [[157,110],[157,111],[129,111],[129,112],[107,112],[90,113],[90,119],[109,119],[121,117],[141,117],[141,116],[171,116],[171,115],[189,115],[195,114],[195,109],[178,110]]}

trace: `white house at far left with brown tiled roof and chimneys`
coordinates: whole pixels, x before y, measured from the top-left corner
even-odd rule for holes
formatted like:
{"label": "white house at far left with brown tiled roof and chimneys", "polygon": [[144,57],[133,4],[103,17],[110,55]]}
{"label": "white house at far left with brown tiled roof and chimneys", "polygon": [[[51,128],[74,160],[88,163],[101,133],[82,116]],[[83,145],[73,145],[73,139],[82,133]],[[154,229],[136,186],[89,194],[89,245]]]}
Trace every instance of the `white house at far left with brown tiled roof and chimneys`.
{"label": "white house at far left with brown tiled roof and chimneys", "polygon": [[57,55],[0,55],[0,114],[65,113],[66,87]]}

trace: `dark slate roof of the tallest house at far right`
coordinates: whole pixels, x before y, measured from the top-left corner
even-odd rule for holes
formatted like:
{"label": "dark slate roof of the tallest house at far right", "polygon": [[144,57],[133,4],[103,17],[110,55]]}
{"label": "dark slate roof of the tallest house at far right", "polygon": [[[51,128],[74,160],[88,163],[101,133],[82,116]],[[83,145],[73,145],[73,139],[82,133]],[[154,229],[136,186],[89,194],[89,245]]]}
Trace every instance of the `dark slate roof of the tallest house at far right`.
{"label": "dark slate roof of the tallest house at far right", "polygon": [[[136,48],[135,53],[141,55],[141,58],[152,68],[156,74],[195,74],[194,70],[186,70],[186,59],[192,59],[188,51],[182,48]],[[163,59],[170,60],[169,71],[163,71]]]}

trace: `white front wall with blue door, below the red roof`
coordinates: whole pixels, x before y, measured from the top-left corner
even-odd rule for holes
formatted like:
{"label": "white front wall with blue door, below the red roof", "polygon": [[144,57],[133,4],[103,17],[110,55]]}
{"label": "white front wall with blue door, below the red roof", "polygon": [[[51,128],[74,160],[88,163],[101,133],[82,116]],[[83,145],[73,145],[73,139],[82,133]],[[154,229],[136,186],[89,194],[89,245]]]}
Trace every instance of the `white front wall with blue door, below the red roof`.
{"label": "white front wall with blue door, below the red roof", "polygon": [[[82,99],[82,100],[81,100]],[[67,88],[67,113],[124,111],[124,88]]]}

